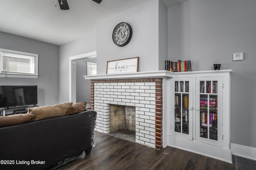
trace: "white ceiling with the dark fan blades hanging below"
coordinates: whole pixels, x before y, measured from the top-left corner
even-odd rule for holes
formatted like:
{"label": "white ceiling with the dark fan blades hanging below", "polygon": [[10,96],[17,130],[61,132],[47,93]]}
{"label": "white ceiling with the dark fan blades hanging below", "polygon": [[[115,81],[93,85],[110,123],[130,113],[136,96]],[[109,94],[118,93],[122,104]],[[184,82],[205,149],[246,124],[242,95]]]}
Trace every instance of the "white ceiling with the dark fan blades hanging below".
{"label": "white ceiling with the dark fan blades hanging below", "polygon": [[[96,33],[96,22],[148,0],[0,0],[0,31],[62,45]],[[162,0],[167,7],[186,0]]]}

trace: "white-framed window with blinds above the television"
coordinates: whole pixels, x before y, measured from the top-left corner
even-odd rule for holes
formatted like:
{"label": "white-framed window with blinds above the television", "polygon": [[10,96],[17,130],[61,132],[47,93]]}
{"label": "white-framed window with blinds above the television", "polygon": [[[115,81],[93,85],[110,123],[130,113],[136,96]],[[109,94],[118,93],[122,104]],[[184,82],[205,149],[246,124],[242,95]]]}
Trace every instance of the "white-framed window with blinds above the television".
{"label": "white-framed window with blinds above the television", "polygon": [[0,49],[1,74],[37,75],[38,55]]}

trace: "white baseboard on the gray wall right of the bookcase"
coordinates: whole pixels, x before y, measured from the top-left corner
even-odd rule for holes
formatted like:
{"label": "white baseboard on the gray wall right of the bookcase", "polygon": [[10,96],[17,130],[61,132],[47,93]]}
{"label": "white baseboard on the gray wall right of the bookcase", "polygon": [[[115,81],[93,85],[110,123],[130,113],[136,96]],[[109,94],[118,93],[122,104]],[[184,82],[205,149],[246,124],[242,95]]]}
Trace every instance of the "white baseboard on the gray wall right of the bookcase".
{"label": "white baseboard on the gray wall right of the bookcase", "polygon": [[231,154],[256,160],[256,148],[231,143]]}

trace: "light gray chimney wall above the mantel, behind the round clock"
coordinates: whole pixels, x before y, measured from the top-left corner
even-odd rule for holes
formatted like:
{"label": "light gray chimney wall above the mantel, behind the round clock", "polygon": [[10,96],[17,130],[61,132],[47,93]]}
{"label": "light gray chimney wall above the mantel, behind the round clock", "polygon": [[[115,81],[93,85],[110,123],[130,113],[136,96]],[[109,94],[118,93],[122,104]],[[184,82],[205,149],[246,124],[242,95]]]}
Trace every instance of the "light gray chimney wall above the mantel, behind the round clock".
{"label": "light gray chimney wall above the mantel, behind the round clock", "polygon": [[[132,26],[128,45],[118,47],[112,40],[114,27],[120,22]],[[107,61],[139,58],[139,71],[158,70],[158,0],[120,12],[97,23],[97,74],[106,74]]]}

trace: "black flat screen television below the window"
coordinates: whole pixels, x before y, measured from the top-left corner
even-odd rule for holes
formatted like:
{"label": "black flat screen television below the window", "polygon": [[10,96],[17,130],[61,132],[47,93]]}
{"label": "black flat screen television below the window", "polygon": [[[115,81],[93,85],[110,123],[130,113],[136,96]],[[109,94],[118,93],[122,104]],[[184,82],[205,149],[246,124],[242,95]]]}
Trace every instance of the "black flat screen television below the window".
{"label": "black flat screen television below the window", "polygon": [[37,104],[37,86],[0,86],[0,107]]}

